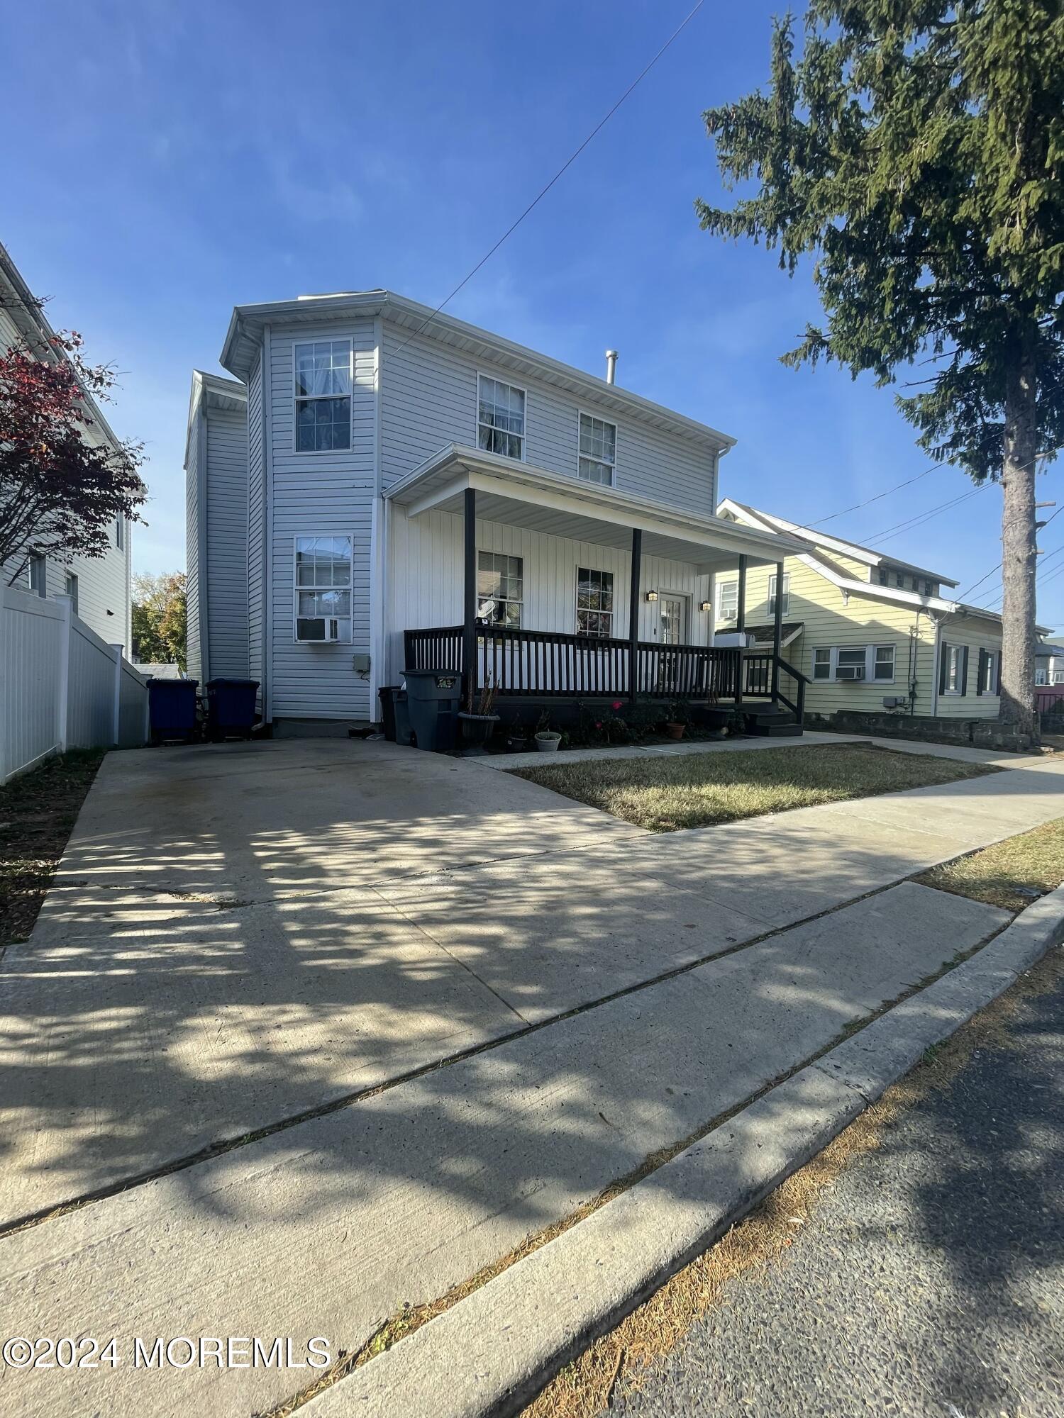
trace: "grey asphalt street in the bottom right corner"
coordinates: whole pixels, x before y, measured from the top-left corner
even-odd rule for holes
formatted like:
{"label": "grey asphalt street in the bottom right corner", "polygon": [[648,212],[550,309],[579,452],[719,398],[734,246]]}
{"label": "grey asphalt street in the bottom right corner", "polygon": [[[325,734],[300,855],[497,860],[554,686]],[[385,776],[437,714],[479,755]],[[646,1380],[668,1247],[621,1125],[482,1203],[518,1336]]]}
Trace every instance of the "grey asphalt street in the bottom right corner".
{"label": "grey asphalt street in the bottom right corner", "polygon": [[890,1124],[621,1418],[1061,1418],[1064,984]]}

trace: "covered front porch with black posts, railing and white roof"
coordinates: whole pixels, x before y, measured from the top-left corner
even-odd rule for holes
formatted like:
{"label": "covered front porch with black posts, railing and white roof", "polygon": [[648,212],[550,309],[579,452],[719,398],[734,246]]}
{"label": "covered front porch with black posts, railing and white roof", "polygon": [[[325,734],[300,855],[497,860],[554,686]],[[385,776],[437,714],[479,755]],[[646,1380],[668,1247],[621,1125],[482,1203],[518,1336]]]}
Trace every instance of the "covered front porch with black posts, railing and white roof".
{"label": "covered front porch with black posts, railing and white roof", "polygon": [[[743,644],[748,569],[782,576],[800,539],[458,447],[386,498],[394,672],[461,674],[467,705],[491,686],[499,709],[680,699],[800,725],[806,681],[780,652],[779,598],[770,648]],[[738,614],[715,644],[714,587],[729,573]],[[426,586],[431,607],[460,614],[433,615]]]}

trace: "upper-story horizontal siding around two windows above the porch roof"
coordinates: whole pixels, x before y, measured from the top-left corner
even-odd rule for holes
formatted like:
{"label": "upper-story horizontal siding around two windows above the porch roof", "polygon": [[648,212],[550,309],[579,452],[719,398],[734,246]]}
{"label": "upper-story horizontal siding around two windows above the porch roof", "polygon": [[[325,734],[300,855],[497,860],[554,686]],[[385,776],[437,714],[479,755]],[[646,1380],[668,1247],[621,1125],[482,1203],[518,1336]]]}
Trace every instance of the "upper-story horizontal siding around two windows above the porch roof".
{"label": "upper-story horizontal siding around two windows above the porch roof", "polygon": [[617,425],[617,488],[712,516],[715,457],[675,434],[641,425],[433,340],[383,328],[383,485],[411,472],[447,444],[477,445],[477,373],[528,391],[525,461],[576,478],[580,410]]}

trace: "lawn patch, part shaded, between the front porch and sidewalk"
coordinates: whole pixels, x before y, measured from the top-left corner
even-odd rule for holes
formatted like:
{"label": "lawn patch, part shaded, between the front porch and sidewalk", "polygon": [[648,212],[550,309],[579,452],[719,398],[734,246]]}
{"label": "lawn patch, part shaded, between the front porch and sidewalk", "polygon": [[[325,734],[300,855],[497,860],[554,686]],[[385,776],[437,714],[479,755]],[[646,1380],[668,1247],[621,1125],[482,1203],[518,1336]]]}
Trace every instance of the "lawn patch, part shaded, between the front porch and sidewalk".
{"label": "lawn patch, part shaded, between the front porch and sidewalk", "polygon": [[599,807],[651,832],[733,822],[816,803],[897,793],[982,777],[980,763],[895,753],[860,743],[689,753],[638,759],[586,759],[516,769],[565,797]]}

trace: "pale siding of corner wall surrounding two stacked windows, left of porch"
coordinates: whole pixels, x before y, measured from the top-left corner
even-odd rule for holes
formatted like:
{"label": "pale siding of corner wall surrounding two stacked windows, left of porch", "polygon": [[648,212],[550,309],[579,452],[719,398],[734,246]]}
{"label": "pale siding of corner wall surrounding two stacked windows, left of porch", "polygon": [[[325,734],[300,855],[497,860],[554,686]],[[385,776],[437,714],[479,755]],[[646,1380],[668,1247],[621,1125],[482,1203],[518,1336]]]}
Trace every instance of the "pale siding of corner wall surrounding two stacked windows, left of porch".
{"label": "pale siding of corner wall surrounding two stacked windows, left of porch", "polygon": [[[294,451],[292,346],[314,339],[349,339],[355,352],[352,445],[342,452]],[[373,320],[271,332],[271,710],[275,718],[370,718],[369,678],[355,672],[352,655],[370,648],[375,400]],[[350,645],[295,642],[295,537],[315,533],[348,535],[353,542]]]}

